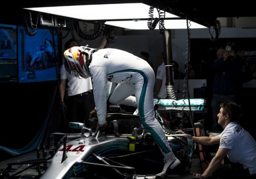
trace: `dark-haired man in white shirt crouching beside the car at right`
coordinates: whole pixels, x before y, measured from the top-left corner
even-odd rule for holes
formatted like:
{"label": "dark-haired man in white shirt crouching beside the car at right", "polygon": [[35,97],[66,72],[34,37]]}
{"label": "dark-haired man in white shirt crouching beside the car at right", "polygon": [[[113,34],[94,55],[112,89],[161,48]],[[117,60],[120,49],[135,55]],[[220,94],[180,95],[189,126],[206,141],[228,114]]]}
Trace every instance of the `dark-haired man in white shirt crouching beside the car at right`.
{"label": "dark-haired man in white shirt crouching beside the car at right", "polygon": [[[242,115],[240,106],[235,102],[220,104],[218,124],[224,129],[214,137],[193,137],[193,142],[202,145],[220,144],[216,155],[204,173],[193,173],[200,179],[213,175],[223,179],[256,179],[256,142],[254,138],[237,124]],[[184,134],[178,130],[176,133]],[[230,162],[220,165],[227,156]]]}

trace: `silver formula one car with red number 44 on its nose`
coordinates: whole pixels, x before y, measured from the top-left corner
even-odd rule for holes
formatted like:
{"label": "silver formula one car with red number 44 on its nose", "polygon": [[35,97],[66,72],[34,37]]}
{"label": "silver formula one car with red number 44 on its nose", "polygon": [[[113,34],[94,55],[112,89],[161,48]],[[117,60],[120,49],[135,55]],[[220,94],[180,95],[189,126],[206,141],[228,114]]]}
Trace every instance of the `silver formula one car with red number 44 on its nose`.
{"label": "silver formula one car with red number 44 on its nose", "polygon": [[[155,117],[162,125],[174,155],[181,161],[175,169],[167,171],[168,176],[195,178],[189,172],[194,149],[192,136],[169,130],[157,110]],[[108,126],[104,129],[96,126],[97,121],[91,121],[90,127],[70,122],[70,128],[79,128],[81,133],[51,134],[49,144],[38,149],[38,159],[8,163],[6,169],[0,169],[0,179],[158,178],[157,173],[164,166],[163,156],[154,138],[142,126],[140,117],[108,113],[106,120]],[[24,174],[32,168],[37,170],[36,175]]]}

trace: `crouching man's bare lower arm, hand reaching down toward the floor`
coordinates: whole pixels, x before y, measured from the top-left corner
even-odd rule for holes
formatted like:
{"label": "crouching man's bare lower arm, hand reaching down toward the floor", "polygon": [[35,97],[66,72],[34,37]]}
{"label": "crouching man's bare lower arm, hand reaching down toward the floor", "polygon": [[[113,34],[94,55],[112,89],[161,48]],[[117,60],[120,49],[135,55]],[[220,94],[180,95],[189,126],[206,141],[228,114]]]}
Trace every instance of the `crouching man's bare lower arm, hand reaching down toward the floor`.
{"label": "crouching man's bare lower arm, hand reaching down toward the floor", "polygon": [[193,175],[199,177],[199,179],[206,179],[211,176],[212,173],[219,167],[220,163],[223,161],[229,150],[230,149],[227,148],[219,148],[204,173],[202,175],[199,173],[193,173]]}

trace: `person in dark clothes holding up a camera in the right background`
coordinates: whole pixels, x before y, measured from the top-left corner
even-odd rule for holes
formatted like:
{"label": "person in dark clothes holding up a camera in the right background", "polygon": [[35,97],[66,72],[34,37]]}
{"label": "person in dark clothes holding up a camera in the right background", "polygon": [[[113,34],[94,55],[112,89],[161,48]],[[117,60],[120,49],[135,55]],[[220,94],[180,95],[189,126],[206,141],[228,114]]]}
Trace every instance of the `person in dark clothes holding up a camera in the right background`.
{"label": "person in dark clothes holding up a camera in the right background", "polygon": [[212,84],[212,133],[220,133],[223,129],[218,124],[220,104],[223,102],[238,102],[238,94],[242,89],[242,57],[236,55],[236,45],[227,45],[217,51],[217,57],[212,64],[214,72]]}

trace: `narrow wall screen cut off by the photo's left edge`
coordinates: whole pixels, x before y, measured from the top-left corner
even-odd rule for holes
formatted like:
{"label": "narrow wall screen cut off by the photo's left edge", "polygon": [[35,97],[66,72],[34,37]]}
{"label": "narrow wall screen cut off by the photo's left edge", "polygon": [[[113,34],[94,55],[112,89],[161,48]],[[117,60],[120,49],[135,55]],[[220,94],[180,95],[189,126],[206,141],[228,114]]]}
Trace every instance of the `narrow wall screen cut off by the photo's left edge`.
{"label": "narrow wall screen cut off by the photo's left edge", "polygon": [[17,82],[17,26],[0,24],[0,82]]}

